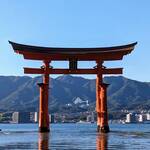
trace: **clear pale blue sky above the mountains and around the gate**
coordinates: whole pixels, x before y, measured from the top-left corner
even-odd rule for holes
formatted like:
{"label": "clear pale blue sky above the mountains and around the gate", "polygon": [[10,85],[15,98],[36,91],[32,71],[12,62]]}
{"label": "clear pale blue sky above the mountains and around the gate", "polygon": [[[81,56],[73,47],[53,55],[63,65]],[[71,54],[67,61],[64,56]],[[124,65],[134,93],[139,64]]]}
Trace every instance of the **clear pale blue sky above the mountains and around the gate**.
{"label": "clear pale blue sky above the mountains and around the gate", "polygon": [[[8,40],[49,47],[107,47],[137,41],[123,61],[105,66],[123,67],[123,76],[150,82],[149,8],[150,0],[0,0],[0,75],[23,76],[23,67],[42,65],[14,53]],[[51,65],[67,67],[66,62]],[[79,63],[82,68],[94,65]]]}

